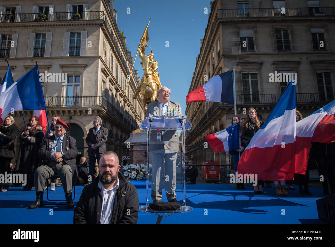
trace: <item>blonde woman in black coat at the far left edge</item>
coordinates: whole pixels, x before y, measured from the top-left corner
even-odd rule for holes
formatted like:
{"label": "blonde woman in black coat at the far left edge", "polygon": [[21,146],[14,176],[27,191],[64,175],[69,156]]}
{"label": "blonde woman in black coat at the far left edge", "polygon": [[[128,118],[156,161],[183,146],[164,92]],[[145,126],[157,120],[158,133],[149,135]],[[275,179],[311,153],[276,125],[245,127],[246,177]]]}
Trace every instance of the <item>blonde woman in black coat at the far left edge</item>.
{"label": "blonde woman in black coat at the far left edge", "polygon": [[[0,126],[0,174],[11,173],[10,162],[14,158],[14,141],[18,131],[12,115],[7,115]],[[8,183],[4,183],[1,191],[7,191],[8,187]]]}

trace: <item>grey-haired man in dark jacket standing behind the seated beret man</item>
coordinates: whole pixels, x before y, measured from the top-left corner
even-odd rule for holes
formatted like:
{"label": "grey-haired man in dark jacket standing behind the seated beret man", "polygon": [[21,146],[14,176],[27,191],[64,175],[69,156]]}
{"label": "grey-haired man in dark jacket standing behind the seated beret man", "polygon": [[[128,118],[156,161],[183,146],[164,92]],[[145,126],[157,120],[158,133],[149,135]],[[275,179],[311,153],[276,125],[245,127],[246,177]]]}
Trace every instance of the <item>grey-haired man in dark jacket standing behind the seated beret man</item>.
{"label": "grey-haired man in dark jacket standing behind the seated beret man", "polygon": [[[108,136],[108,130],[101,125],[103,121],[100,117],[96,117],[93,120],[93,128],[89,129],[86,143],[88,145],[88,156],[89,156],[89,170],[88,170],[88,181],[91,183],[94,179],[94,167],[95,160],[99,165],[100,156],[106,152],[106,141]],[[91,177],[90,177],[91,176]]]}

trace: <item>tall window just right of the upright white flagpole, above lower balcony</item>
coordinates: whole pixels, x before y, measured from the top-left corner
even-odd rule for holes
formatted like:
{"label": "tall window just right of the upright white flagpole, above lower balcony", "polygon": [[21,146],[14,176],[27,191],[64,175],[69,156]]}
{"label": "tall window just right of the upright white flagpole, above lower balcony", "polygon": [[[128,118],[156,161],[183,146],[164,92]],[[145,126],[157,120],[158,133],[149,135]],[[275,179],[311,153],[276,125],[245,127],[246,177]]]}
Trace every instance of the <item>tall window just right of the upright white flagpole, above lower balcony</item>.
{"label": "tall window just right of the upright white flagpole, above lower balcony", "polygon": [[242,72],[244,102],[259,102],[258,72]]}

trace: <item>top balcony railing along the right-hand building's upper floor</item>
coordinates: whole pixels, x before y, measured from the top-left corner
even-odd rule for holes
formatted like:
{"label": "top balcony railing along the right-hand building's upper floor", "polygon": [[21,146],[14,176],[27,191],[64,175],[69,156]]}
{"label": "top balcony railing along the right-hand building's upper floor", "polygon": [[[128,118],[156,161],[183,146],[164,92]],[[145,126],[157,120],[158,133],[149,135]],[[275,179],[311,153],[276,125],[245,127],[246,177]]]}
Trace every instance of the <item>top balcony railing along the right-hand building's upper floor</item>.
{"label": "top balcony railing along the right-hand building's upper floor", "polygon": [[218,9],[218,18],[235,17],[292,17],[292,16],[335,16],[335,7],[331,8],[258,8],[258,9]]}

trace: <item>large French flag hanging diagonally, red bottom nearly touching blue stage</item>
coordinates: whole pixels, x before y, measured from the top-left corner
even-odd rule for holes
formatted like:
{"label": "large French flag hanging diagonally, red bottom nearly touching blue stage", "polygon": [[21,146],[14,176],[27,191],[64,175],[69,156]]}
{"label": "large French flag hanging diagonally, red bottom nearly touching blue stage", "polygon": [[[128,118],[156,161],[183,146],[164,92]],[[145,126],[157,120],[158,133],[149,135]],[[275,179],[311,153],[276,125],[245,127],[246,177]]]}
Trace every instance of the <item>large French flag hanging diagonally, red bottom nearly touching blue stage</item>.
{"label": "large French flag hanging diagonally, red bottom nearly touching blue stage", "polygon": [[295,136],[295,85],[291,82],[240,157],[238,173],[257,174],[259,180],[293,180]]}

